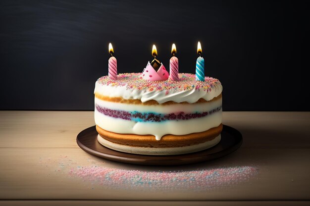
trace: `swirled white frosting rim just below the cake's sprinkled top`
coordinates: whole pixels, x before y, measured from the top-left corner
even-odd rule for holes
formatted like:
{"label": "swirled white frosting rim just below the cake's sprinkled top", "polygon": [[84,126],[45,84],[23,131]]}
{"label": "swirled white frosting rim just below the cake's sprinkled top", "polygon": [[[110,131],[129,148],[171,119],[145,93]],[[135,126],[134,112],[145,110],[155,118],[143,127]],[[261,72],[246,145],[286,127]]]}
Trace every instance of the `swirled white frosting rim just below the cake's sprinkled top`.
{"label": "swirled white frosting rim just below the cake's sprinkled top", "polygon": [[174,101],[177,103],[180,102],[189,102],[195,103],[200,98],[203,98],[207,101],[213,99],[218,96],[222,92],[222,85],[220,83],[216,83],[211,90],[207,91],[204,89],[189,89],[183,91],[169,91],[166,94],[166,90],[158,91],[147,91],[139,90],[139,89],[128,89],[126,86],[111,86],[99,83],[98,81],[95,84],[94,93],[99,93],[104,96],[109,97],[122,97],[123,99],[140,99],[142,102],[147,102],[149,100],[155,100],[159,104]]}

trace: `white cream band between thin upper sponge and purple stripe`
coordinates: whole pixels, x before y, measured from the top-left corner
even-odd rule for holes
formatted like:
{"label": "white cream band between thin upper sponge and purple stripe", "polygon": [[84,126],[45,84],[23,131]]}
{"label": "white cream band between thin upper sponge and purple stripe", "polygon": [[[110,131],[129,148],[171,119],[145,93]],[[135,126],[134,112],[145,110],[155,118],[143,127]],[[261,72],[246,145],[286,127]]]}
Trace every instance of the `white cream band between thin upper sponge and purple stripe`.
{"label": "white cream band between thin upper sponge and purple stripe", "polygon": [[208,112],[212,109],[220,107],[222,105],[222,98],[216,99],[211,102],[197,103],[197,104],[169,104],[169,105],[138,105],[138,104],[126,104],[118,102],[104,101],[95,98],[95,104],[106,107],[112,110],[122,110],[127,112],[153,112],[160,114],[170,114],[170,113],[195,113],[195,112]]}

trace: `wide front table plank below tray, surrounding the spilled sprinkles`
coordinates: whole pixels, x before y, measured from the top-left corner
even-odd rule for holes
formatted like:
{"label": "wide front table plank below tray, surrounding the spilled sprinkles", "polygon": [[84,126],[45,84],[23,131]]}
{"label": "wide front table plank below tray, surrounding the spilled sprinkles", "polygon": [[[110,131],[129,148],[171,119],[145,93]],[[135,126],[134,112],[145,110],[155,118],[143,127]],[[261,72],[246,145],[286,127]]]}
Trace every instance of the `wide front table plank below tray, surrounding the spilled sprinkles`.
{"label": "wide front table plank below tray, surrounding the spilled sprinkles", "polygon": [[[111,162],[79,148],[1,148],[0,199],[13,200],[309,200],[308,149],[240,148],[216,161],[190,166],[139,166]],[[212,190],[168,192],[113,189],[70,175],[78,166],[144,171],[256,166],[247,182]],[[59,171],[58,171],[59,170]],[[84,179],[85,180],[85,179]],[[176,189],[176,188],[174,188]]]}

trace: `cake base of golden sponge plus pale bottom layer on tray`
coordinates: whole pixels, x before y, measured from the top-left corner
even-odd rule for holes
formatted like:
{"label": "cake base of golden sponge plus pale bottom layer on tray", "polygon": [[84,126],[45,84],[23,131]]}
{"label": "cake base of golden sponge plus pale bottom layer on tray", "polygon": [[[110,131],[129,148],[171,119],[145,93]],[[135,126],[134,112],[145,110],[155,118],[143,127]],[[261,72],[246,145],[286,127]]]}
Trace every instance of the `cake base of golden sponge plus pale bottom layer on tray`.
{"label": "cake base of golden sponge plus pale bottom layer on tray", "polygon": [[153,135],[119,134],[96,125],[100,144],[116,151],[138,155],[181,155],[202,151],[220,141],[222,128],[220,124],[207,131],[184,135],[166,134],[156,140]]}

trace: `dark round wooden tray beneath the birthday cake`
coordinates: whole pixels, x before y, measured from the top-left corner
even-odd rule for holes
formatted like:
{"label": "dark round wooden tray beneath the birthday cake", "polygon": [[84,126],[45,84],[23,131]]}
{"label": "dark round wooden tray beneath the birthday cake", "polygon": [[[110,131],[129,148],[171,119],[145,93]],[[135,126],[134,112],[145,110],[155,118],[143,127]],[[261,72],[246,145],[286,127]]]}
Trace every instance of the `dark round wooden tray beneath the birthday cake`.
{"label": "dark round wooden tray beneath the birthday cake", "polygon": [[76,142],[85,152],[111,161],[136,165],[186,165],[213,160],[228,155],[242,144],[241,133],[230,126],[223,125],[221,141],[207,150],[171,156],[136,155],[118,152],[101,145],[97,140],[96,126],[81,131]]}

